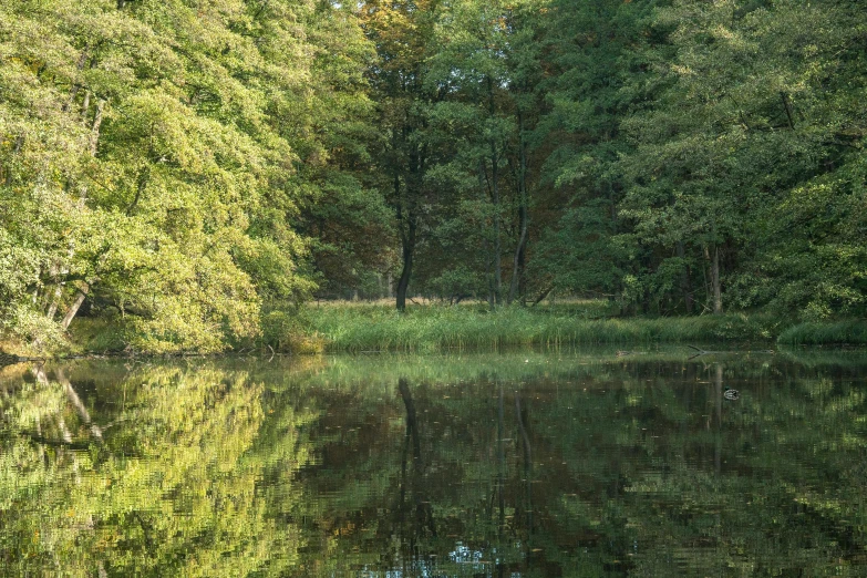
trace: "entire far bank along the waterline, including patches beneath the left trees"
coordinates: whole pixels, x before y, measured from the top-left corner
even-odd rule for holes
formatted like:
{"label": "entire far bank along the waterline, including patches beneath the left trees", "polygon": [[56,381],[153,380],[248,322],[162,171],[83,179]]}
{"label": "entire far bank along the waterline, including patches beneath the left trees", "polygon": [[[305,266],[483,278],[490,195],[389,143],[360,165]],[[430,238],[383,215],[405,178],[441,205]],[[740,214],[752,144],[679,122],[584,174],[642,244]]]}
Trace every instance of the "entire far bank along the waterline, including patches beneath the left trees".
{"label": "entire far bank along the waterline, including patches beneath the left trees", "polygon": [[[477,303],[457,307],[413,305],[405,313],[396,312],[391,303],[310,303],[300,309],[271,308],[265,311],[261,334],[255,340],[230,343],[227,351],[311,354],[496,350],[522,345],[867,344],[867,322],[864,320],[796,322],[766,313],[621,318],[612,313],[606,301],[512,307],[493,311]],[[111,320],[82,318],[71,328],[69,347],[48,357],[151,353],[133,351],[130,341],[124,330]],[[8,342],[0,348],[2,352],[35,355],[32,348]]]}

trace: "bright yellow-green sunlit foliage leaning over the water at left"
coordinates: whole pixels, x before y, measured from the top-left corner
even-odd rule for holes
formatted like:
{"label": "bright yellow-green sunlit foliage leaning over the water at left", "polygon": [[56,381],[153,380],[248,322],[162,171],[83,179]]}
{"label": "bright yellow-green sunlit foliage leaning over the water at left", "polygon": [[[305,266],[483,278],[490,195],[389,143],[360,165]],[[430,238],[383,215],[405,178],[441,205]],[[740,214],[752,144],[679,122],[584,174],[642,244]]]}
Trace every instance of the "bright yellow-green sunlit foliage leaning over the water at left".
{"label": "bright yellow-green sunlit foliage leaning over the water at left", "polygon": [[258,333],[262,298],[310,296],[299,207],[348,182],[334,151],[364,157],[350,12],[17,0],[0,21],[7,331],[49,348],[86,293],[136,349],[213,352]]}

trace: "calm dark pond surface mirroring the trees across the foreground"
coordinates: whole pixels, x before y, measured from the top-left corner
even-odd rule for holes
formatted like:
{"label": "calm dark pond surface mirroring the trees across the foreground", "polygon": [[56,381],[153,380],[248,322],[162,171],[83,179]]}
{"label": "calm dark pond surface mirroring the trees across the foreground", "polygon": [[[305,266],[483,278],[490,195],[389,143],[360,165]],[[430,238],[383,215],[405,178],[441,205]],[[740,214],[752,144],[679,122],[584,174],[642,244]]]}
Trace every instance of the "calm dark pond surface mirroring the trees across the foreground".
{"label": "calm dark pond surface mirroring the trees across the foreground", "polygon": [[867,354],[691,355],[0,368],[0,575],[867,575]]}

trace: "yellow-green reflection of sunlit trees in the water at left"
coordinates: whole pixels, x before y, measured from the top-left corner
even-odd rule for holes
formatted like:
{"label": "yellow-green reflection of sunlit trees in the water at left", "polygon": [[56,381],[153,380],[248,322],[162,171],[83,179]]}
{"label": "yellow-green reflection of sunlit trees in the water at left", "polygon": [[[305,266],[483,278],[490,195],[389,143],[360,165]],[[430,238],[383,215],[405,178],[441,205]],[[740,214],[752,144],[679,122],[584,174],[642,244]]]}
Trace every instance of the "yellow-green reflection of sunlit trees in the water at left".
{"label": "yellow-green reflection of sunlit trees in the water at left", "polygon": [[272,433],[281,442],[261,446],[262,386],[246,374],[120,367],[112,383],[100,380],[100,393],[125,395],[106,424],[102,409],[90,413],[79,399],[76,369],[37,370],[37,382],[17,382],[2,405],[7,572],[62,564],[71,576],[248,576],[290,567],[298,529],[260,502],[258,484],[279,468],[280,495],[293,494],[289,474],[310,460],[299,435],[307,412],[282,409]]}

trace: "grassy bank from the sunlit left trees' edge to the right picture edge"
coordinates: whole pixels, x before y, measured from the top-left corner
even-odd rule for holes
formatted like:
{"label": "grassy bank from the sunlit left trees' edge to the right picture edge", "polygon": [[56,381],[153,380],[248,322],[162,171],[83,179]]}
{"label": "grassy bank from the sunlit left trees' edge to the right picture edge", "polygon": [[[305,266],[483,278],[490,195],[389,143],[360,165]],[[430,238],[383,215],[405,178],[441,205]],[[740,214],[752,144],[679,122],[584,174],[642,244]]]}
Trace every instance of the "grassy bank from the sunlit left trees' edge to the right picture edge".
{"label": "grassy bank from the sunlit left trees' edge to the right picture edge", "polygon": [[607,301],[538,308],[424,305],[398,313],[390,305],[310,306],[299,327],[326,351],[437,351],[513,345],[630,343],[767,343],[864,345],[867,321],[798,322],[768,313],[615,317]]}

